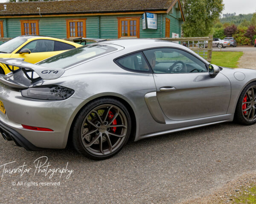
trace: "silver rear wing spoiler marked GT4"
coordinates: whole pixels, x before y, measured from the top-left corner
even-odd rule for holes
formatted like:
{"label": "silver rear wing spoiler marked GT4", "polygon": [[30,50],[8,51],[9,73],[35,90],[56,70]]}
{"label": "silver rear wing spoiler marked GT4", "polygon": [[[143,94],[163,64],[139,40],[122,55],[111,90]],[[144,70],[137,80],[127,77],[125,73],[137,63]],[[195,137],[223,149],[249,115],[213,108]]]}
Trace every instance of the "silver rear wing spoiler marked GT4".
{"label": "silver rear wing spoiler marked GT4", "polygon": [[[24,62],[23,60],[24,59],[22,58],[0,58],[0,62],[5,64],[10,71],[15,73],[22,69],[26,77],[32,82],[35,82],[38,79],[57,79],[65,72],[65,70],[61,68],[46,68],[40,65]],[[10,68],[10,66],[15,66],[20,69],[14,70],[14,68]],[[34,71],[39,77],[34,76]]]}

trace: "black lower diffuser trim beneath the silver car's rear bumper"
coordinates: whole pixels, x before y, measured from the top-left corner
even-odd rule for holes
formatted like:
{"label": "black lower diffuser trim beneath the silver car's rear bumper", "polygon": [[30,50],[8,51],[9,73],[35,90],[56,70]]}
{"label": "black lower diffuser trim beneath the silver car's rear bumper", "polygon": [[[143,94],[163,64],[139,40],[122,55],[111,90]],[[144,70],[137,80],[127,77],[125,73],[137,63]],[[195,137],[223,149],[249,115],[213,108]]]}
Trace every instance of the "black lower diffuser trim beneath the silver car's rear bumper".
{"label": "black lower diffuser trim beneath the silver car's rear bumper", "polygon": [[34,144],[29,142],[26,138],[24,138],[20,133],[13,130],[12,128],[5,125],[3,122],[0,121],[0,133],[1,134],[8,134],[8,136],[18,145],[24,147],[26,150],[29,151],[38,151],[42,150],[40,147],[36,147]]}

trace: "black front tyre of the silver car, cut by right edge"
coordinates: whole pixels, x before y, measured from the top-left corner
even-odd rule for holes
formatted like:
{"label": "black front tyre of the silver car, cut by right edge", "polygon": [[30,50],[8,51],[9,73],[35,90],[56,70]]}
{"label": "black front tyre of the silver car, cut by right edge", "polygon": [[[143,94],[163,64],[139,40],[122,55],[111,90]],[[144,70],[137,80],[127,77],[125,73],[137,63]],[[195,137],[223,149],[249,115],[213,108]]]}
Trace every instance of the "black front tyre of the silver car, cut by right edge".
{"label": "black front tyre of the silver car, cut by right edge", "polygon": [[[252,120],[249,120],[249,118],[247,119],[247,116],[248,116],[248,113],[250,112],[249,110],[248,111],[243,111],[243,110],[246,110],[246,109],[243,109],[242,105],[243,105],[243,101],[244,101],[244,97],[245,96],[248,96],[250,97],[251,95],[248,95],[247,94],[247,91],[250,91],[250,89],[252,87],[255,87],[256,88],[256,82],[251,82],[250,84],[248,84],[244,90],[242,91],[241,95],[239,96],[239,99],[238,99],[238,102],[237,102],[237,105],[236,105],[236,111],[235,111],[235,116],[234,116],[234,120],[242,125],[253,125],[256,123],[256,118],[255,119],[252,119]],[[254,94],[256,96],[256,92]],[[247,98],[248,98],[247,97]],[[254,97],[255,98],[255,97]],[[248,101],[249,103],[249,101]],[[254,103],[253,103],[254,104]],[[249,105],[246,105],[246,108],[249,108],[249,106],[251,106],[251,104]],[[256,105],[255,105],[256,106]],[[253,107],[252,107],[253,108]],[[254,108],[253,108],[254,109]],[[247,114],[247,116],[246,116]],[[249,116],[248,117],[253,117],[252,116],[253,113],[249,113]],[[254,112],[254,116],[256,115],[256,111]]]}

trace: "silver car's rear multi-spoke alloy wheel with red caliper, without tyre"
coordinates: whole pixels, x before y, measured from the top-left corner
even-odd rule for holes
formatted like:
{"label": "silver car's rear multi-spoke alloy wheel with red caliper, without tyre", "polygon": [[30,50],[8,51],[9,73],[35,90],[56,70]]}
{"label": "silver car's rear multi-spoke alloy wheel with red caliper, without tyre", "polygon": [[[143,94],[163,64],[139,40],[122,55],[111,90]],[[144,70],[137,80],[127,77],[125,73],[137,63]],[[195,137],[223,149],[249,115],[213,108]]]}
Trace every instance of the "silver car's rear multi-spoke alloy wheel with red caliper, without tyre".
{"label": "silver car's rear multi-spoke alloy wheel with red caliper, without tyre", "polygon": [[127,135],[126,116],[112,104],[93,108],[82,124],[82,144],[87,151],[97,156],[105,156],[117,150]]}

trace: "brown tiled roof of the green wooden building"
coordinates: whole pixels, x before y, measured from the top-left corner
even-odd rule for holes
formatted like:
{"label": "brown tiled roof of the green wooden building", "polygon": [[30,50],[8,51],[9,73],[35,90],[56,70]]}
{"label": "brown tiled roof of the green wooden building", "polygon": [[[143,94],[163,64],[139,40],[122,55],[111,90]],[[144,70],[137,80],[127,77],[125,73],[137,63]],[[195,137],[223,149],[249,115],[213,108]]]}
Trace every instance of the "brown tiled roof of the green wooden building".
{"label": "brown tiled roof of the green wooden building", "polygon": [[[0,16],[167,11],[177,0],[61,0],[0,3]],[[4,6],[7,6],[6,11]],[[181,11],[182,12],[182,11]]]}

